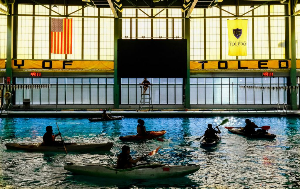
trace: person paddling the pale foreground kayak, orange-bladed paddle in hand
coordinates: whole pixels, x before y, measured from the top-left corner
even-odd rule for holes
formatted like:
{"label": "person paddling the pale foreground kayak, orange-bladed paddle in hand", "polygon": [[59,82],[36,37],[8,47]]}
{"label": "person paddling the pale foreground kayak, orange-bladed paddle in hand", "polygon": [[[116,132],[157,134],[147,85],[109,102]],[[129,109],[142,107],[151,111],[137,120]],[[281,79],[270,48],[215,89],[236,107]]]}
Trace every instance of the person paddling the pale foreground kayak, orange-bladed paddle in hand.
{"label": "person paddling the pale foreground kayak, orange-bladed paddle in hand", "polygon": [[136,160],[133,160],[131,158],[130,155],[130,147],[129,146],[122,146],[121,148],[122,153],[119,155],[118,157],[118,161],[117,161],[117,169],[128,169],[132,167],[132,164],[137,163],[138,161],[140,161],[142,157],[137,158]]}

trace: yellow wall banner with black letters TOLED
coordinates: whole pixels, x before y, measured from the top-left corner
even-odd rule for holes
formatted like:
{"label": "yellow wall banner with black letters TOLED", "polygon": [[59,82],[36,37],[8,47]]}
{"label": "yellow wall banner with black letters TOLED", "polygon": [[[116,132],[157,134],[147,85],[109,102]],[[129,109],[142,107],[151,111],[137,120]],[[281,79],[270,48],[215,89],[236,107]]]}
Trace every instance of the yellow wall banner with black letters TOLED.
{"label": "yellow wall banner with black letters TOLED", "polygon": [[[300,60],[297,60],[297,68]],[[290,60],[190,61],[190,70],[289,69]]]}

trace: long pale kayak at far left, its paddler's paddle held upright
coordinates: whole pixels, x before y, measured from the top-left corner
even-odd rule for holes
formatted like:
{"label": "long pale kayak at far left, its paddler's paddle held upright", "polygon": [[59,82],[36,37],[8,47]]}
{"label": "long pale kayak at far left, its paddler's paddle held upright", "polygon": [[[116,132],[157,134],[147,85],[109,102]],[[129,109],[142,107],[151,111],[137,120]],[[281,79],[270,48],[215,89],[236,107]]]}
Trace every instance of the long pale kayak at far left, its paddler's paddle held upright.
{"label": "long pale kayak at far left, its paddler's paddle held upright", "polygon": [[[67,152],[110,151],[113,143],[64,143]],[[31,152],[65,152],[64,146],[43,146],[42,143],[6,143],[8,150],[26,150]]]}

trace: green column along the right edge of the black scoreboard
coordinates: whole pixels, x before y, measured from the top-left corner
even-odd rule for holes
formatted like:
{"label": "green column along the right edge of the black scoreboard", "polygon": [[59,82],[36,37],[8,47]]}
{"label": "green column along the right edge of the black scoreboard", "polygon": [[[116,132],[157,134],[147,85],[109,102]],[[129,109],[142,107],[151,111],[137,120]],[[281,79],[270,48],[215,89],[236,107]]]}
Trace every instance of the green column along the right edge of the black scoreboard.
{"label": "green column along the right edge of the black scoreboard", "polygon": [[187,40],[187,78],[185,79],[185,108],[190,108],[190,19],[184,19],[184,38]]}

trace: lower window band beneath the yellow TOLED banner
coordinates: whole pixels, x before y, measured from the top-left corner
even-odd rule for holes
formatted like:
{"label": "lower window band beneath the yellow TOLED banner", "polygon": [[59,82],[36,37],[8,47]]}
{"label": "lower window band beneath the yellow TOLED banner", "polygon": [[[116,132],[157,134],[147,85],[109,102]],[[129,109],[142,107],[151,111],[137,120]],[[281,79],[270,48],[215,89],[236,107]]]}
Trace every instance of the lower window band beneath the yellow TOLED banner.
{"label": "lower window band beneath the yellow TOLED banner", "polygon": [[190,78],[190,104],[286,103],[286,83],[286,77]]}

